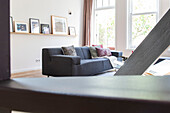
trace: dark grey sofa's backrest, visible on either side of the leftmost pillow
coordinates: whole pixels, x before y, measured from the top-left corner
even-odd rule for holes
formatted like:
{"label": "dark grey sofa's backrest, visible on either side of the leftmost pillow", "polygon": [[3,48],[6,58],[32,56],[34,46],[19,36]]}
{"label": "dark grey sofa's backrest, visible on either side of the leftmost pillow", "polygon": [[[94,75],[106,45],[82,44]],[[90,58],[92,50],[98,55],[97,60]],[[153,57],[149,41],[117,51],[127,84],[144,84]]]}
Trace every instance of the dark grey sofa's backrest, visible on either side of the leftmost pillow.
{"label": "dark grey sofa's backrest, visible on either side of the leftmost pillow", "polygon": [[[77,56],[80,56],[81,59],[91,59],[91,53],[89,47],[75,47]],[[61,48],[44,48],[43,56],[52,56],[52,55],[63,55]]]}

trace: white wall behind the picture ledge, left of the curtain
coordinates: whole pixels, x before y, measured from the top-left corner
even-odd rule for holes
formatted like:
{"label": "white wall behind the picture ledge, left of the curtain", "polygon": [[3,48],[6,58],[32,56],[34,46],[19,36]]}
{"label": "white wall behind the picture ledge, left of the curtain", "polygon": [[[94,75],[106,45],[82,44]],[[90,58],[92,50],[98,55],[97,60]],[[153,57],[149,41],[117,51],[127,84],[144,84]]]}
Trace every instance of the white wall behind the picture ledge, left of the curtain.
{"label": "white wall behind the picture ledge, left of the curtain", "polygon": [[[76,27],[76,37],[39,36],[11,34],[12,73],[40,69],[43,47],[81,45],[83,0],[11,0],[11,16],[15,21],[29,22],[29,18],[40,19],[50,24],[51,15],[68,19],[68,26]],[[72,15],[68,15],[68,11]]]}

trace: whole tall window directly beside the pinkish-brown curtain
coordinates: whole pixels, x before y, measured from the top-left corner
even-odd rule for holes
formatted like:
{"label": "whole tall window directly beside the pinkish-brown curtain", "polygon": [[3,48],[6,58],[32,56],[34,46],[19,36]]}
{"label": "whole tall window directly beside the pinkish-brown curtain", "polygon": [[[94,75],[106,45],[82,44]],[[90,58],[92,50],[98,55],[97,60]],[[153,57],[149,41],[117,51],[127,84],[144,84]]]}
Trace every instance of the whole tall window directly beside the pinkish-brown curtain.
{"label": "whole tall window directly beside the pinkish-brown curtain", "polygon": [[115,47],[115,0],[95,0],[93,44]]}

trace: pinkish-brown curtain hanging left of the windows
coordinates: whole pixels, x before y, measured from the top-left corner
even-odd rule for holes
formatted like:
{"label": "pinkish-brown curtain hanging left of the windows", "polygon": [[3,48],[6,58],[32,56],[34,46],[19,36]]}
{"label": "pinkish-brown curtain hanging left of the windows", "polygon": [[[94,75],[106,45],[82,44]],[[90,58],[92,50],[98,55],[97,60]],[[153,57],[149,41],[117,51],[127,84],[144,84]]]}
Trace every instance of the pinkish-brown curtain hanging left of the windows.
{"label": "pinkish-brown curtain hanging left of the windows", "polygon": [[84,26],[83,26],[83,46],[89,46],[91,43],[91,16],[93,0],[84,0]]}

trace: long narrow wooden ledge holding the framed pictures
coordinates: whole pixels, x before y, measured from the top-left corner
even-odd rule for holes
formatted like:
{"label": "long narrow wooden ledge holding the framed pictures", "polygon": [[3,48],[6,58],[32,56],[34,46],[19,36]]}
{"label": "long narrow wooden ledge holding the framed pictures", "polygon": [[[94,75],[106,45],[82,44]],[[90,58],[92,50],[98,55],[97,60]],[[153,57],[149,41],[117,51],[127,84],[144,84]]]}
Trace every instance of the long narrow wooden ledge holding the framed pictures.
{"label": "long narrow wooden ledge holding the framed pictures", "polygon": [[17,32],[11,32],[10,34],[21,34],[21,35],[43,35],[43,36],[70,36],[70,37],[76,37],[76,36],[73,36],[73,35],[42,34],[42,33],[17,33]]}

